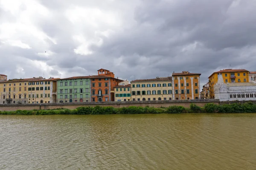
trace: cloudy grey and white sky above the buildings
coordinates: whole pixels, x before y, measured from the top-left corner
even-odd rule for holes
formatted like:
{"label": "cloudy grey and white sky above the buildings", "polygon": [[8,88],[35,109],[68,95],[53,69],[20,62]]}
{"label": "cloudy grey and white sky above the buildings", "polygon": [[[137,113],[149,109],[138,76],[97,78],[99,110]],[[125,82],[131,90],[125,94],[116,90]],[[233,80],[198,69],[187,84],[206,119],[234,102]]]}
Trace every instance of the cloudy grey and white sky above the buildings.
{"label": "cloudy grey and white sky above the buildings", "polygon": [[[255,0],[0,0],[0,74],[256,71]],[[45,52],[46,51],[46,52]]]}

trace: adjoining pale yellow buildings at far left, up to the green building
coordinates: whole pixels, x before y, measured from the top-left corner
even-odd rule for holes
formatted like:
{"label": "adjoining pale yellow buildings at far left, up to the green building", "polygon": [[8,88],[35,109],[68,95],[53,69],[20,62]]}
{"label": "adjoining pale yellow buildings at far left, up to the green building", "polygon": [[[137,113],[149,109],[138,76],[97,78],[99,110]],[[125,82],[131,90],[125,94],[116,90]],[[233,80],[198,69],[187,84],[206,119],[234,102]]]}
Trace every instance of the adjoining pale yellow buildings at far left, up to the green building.
{"label": "adjoining pale yellow buildings at far left, up to the green building", "polygon": [[[41,94],[44,96],[41,97]],[[54,99],[56,100],[55,79],[33,77],[0,81],[0,104],[48,103],[54,102]]]}

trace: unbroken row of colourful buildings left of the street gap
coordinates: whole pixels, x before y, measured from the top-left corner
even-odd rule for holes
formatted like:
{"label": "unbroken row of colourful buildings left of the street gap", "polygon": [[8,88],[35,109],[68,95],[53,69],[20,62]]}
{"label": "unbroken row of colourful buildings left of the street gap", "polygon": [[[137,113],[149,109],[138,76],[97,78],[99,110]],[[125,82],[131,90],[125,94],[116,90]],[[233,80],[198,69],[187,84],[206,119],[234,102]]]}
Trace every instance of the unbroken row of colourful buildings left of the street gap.
{"label": "unbroken row of colourful buildings left of the street gap", "polygon": [[99,69],[98,75],[64,79],[7,80],[0,74],[0,104],[200,99],[200,75],[183,71],[129,83],[106,69]]}

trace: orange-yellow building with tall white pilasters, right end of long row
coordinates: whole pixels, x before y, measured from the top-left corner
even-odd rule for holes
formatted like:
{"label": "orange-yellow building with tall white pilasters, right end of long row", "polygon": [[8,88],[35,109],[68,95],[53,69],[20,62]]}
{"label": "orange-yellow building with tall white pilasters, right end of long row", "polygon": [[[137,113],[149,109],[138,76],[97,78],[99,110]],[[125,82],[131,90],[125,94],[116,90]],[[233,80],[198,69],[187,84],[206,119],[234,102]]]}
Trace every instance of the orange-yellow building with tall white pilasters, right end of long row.
{"label": "orange-yellow building with tall white pilasters, right end of long row", "polygon": [[200,99],[200,76],[199,73],[173,73],[173,99]]}

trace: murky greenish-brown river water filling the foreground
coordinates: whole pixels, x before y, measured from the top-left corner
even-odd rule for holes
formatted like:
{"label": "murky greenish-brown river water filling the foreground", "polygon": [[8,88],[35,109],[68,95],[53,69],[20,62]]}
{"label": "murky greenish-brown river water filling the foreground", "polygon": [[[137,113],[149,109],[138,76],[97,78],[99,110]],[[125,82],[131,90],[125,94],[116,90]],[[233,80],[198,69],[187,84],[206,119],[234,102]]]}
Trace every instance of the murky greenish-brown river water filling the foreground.
{"label": "murky greenish-brown river water filling the foreground", "polygon": [[256,114],[0,115],[0,169],[256,170]]}

